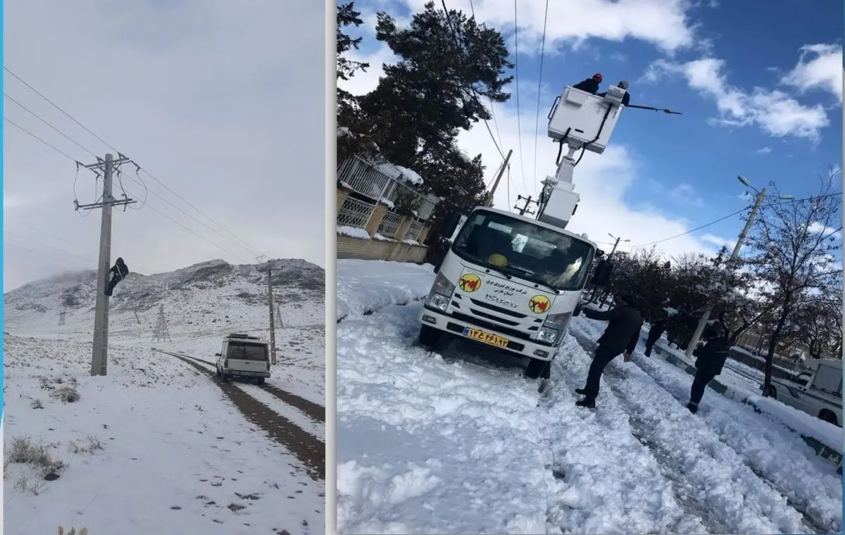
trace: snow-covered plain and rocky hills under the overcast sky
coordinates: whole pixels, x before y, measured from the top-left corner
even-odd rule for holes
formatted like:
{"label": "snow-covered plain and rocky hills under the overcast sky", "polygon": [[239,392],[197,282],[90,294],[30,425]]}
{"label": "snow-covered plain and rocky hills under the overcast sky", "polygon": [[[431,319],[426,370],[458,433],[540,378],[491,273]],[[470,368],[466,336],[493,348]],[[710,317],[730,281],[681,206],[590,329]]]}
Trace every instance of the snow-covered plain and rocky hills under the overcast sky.
{"label": "snow-covered plain and rocky hills under the overcast sky", "polygon": [[[8,292],[6,532],[322,534],[324,270],[272,267],[264,387],[222,384],[213,362],[226,334],[269,335],[266,264],[130,274],[111,298],[106,377],[90,376],[94,271]],[[153,342],[160,305],[170,340]]]}

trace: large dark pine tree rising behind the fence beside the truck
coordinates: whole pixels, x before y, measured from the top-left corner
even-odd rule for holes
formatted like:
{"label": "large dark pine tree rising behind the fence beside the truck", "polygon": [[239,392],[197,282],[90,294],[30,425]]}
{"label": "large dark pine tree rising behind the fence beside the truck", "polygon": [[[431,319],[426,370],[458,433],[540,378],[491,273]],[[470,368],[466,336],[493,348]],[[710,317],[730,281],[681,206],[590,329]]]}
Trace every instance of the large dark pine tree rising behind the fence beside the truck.
{"label": "large dark pine tree rising behind the fence beside the truck", "polygon": [[503,77],[512,67],[504,38],[460,11],[447,17],[433,2],[406,29],[379,13],[376,37],[401,60],[386,65],[376,89],[357,98],[352,131],[373,139],[386,160],[419,172],[423,187],[447,203],[476,205],[483,191],[481,158],[465,156],[455,139],[492,117],[482,97],[510,98],[503,90],[512,79]]}

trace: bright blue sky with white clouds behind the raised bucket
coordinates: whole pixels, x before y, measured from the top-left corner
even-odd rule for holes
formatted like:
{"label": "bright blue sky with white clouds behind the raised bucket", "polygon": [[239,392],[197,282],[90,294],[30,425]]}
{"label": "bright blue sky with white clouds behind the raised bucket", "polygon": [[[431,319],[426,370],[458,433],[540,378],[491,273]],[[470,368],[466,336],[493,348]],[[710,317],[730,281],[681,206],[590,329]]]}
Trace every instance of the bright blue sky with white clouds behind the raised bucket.
{"label": "bright blue sky with white clouds behind the raised bucket", "polygon": [[[366,20],[360,56],[373,63],[353,79],[353,92],[371,89],[380,64],[393,58],[373,36],[374,14],[402,24],[424,0],[356,2]],[[440,4],[437,3],[439,6]],[[470,13],[469,0],[447,2]],[[628,110],[602,156],[588,154],[575,173],[581,206],[571,228],[597,241],[630,237],[650,243],[698,227],[747,205],[736,175],[758,188],[769,181],[784,194],[815,191],[815,177],[842,163],[842,3],[686,2],[683,0],[551,2],[543,60],[540,137],[535,174],[534,125],[540,73],[541,0],[519,2],[520,109],[512,97],[495,113],[504,150],[514,149],[508,192],[534,194],[553,174],[554,147],[545,117],[555,95],[595,72],[606,87],[630,82],[632,103],[668,107],[680,116]],[[514,3],[474,0],[478,19],[500,31],[514,60]],[[517,121],[519,116],[521,121]],[[521,126],[521,128],[520,128]],[[493,122],[491,121],[491,127]],[[462,134],[468,153],[482,153],[488,179],[500,157],[484,128]],[[523,172],[524,169],[524,172]],[[580,217],[579,217],[580,216]],[[658,245],[668,254],[731,244],[739,216]]]}

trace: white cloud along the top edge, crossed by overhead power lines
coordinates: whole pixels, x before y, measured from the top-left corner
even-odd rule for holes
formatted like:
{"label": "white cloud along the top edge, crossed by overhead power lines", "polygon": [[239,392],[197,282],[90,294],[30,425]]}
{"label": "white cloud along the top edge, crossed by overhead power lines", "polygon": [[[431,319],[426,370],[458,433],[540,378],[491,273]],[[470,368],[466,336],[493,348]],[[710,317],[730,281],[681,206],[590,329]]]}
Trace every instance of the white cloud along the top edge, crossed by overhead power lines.
{"label": "white cloud along the top edge, crossed by overhead power lines", "polygon": [[[427,0],[398,0],[413,13],[423,11]],[[437,4],[438,7],[439,3]],[[383,4],[379,4],[379,8]],[[470,14],[470,0],[450,0],[450,9]],[[504,30],[514,28],[514,3],[511,0],[475,0],[476,19]],[[363,6],[361,7],[363,8]],[[566,0],[548,4],[546,52],[562,46],[576,46],[590,39],[621,42],[625,39],[646,41],[672,53],[696,45],[695,29],[687,15],[688,0]],[[542,42],[546,4],[520,2],[520,54],[539,53]],[[574,16],[577,14],[577,16]],[[369,16],[369,14],[367,15]],[[364,15],[362,15],[364,18]],[[513,48],[511,48],[512,50]]]}

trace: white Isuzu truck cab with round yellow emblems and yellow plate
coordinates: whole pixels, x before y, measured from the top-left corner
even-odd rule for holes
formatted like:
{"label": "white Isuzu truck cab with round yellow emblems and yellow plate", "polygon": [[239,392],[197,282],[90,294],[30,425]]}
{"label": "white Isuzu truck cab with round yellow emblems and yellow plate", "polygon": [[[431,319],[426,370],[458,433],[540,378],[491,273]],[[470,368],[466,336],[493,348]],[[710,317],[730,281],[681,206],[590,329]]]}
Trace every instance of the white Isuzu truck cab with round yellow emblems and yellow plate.
{"label": "white Isuzu truck cab with round yellow emblems and yellow plate", "polygon": [[420,344],[461,337],[529,359],[529,378],[548,377],[596,251],[553,224],[477,207],[438,267]]}

